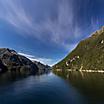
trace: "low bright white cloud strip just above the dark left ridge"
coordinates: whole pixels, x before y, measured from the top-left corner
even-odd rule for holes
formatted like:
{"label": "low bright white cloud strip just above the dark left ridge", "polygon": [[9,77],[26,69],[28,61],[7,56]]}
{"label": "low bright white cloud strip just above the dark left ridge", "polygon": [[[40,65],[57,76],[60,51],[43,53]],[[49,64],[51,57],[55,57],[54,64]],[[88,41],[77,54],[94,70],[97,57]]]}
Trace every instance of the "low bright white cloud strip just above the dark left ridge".
{"label": "low bright white cloud strip just above the dark left ridge", "polygon": [[49,58],[40,58],[40,57],[36,57],[36,56],[33,56],[33,55],[21,53],[21,52],[19,52],[18,54],[29,58],[31,61],[38,61],[38,62],[41,62],[41,63],[43,63],[45,65],[47,64],[47,65],[52,66],[55,63],[55,61],[53,59],[49,59]]}

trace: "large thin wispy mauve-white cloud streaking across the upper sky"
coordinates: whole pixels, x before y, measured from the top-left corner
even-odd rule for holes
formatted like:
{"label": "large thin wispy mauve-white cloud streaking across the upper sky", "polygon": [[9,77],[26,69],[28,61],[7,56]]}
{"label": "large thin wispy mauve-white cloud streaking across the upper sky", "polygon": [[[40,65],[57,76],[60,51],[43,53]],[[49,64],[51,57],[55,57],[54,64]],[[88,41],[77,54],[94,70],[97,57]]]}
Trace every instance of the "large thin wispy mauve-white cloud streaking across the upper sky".
{"label": "large thin wispy mauve-white cloud streaking across the upper sky", "polygon": [[[82,37],[83,31],[85,32],[88,31],[90,27],[94,29],[96,28],[96,26],[98,26],[98,23],[96,23],[97,20],[95,19],[95,21],[91,20],[92,22],[90,26],[87,26],[84,29],[81,28],[81,26],[78,24],[79,21],[76,20],[82,17],[77,17],[76,11],[80,13],[82,11],[82,6],[80,4],[78,5],[78,8],[75,9],[72,3],[73,0],[53,0],[57,4],[56,6],[55,3],[54,5],[52,5],[55,7],[55,19],[52,19],[52,15],[50,15],[52,14],[52,11],[50,11],[50,9],[52,9],[52,6],[50,5],[51,3],[49,4],[50,7],[46,9],[45,13],[44,11],[42,11],[42,8],[46,8],[45,3],[49,2],[49,0],[45,0],[47,1],[45,3],[43,3],[44,1],[39,1],[38,3],[37,0],[34,0],[34,5],[35,1],[37,5],[39,5],[40,3],[43,3],[44,5],[44,7],[40,6],[41,10],[39,10],[39,12],[41,13],[39,14],[41,15],[38,15],[38,9],[40,8],[36,6],[34,9],[34,5],[31,5],[31,1],[32,0],[30,0],[30,4],[28,4],[26,0],[0,0],[0,19],[8,22],[11,26],[14,27],[16,31],[19,32],[20,35],[31,36],[46,43],[47,41],[49,41],[52,44],[60,45],[68,50],[72,45],[76,44],[75,41],[74,43],[70,43],[70,40],[78,40]],[[87,8],[87,6],[89,5],[88,3],[89,0],[86,0],[86,2],[84,3],[85,7],[83,7],[83,9]],[[26,6],[25,4],[28,5]],[[31,11],[27,11],[31,10],[31,6],[33,6],[32,11],[34,11],[34,13],[31,13]],[[45,16],[44,18],[42,18],[43,14]],[[86,13],[84,13],[83,16],[85,17],[83,18],[86,18],[85,14]],[[37,17],[41,17],[41,22],[38,23],[34,15],[37,15]],[[81,25],[84,25],[84,23]]]}

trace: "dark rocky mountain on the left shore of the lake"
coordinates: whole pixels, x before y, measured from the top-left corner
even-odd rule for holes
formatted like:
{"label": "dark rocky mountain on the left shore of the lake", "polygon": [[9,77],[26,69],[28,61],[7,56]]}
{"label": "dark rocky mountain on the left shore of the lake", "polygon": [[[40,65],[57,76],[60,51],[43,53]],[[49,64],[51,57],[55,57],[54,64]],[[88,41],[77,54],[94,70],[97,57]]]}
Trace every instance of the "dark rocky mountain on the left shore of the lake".
{"label": "dark rocky mountain on the left shore of the lake", "polygon": [[0,48],[0,73],[6,71],[37,74],[43,69],[39,69],[37,64],[25,56],[19,55],[15,50]]}

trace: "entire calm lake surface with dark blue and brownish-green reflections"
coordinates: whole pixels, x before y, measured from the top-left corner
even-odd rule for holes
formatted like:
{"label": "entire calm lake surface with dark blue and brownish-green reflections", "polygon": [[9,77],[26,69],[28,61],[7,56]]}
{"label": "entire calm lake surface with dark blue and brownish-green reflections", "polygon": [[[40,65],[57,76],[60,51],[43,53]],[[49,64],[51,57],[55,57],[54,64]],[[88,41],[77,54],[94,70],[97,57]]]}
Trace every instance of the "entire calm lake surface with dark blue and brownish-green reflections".
{"label": "entire calm lake surface with dark blue and brownish-green reflections", "polygon": [[104,104],[103,74],[75,72],[61,77],[3,75],[0,104]]}

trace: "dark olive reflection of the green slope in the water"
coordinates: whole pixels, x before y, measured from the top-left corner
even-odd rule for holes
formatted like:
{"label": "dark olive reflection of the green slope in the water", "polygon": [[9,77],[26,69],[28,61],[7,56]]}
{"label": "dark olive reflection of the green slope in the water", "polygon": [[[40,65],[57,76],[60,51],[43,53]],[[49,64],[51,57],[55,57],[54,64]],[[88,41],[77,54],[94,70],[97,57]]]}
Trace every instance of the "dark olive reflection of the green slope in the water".
{"label": "dark olive reflection of the green slope in the water", "polygon": [[88,104],[104,104],[104,74],[87,72],[57,73],[76,88]]}

